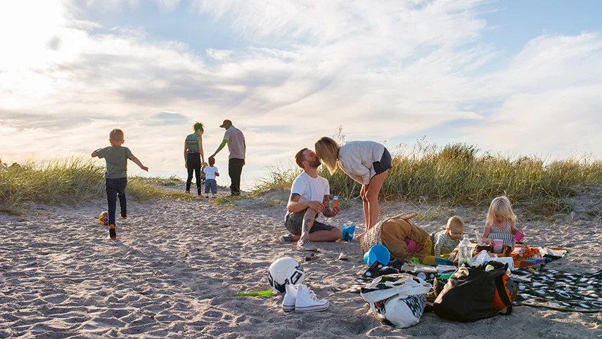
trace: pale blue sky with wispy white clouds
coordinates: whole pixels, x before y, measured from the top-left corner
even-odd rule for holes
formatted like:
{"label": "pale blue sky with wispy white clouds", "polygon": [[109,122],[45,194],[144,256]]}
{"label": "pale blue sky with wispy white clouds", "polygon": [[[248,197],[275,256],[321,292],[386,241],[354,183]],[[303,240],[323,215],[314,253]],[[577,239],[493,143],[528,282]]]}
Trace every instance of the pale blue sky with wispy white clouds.
{"label": "pale blue sky with wispy white clouds", "polygon": [[117,127],[148,175],[185,177],[192,124],[209,155],[224,119],[245,134],[246,188],[339,126],[390,148],[426,136],[602,158],[596,13],[602,1],[2,1],[0,158],[89,157]]}

